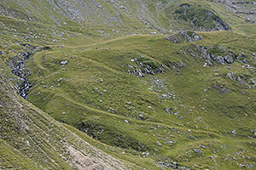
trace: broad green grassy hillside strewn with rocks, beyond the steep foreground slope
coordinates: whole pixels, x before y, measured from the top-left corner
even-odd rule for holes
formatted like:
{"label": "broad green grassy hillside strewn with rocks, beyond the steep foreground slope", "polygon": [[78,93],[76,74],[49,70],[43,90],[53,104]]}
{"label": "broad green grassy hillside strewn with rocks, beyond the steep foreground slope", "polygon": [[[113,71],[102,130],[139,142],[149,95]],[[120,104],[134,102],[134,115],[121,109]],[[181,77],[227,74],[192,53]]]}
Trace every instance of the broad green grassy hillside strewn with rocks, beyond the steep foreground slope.
{"label": "broad green grassy hillside strewn with rocks, beyond the steep foreground slope", "polygon": [[[255,37],[230,31],[201,33],[203,39],[192,43],[165,37],[122,37],[38,53],[27,62],[38,73],[29,77],[35,86],[28,101],[119,148],[127,160],[139,156],[191,169],[252,167]],[[247,63],[234,58],[205,66],[198,47],[211,47],[207,53],[215,55],[244,54]],[[137,70],[145,65],[155,74],[142,71],[140,77]]]}

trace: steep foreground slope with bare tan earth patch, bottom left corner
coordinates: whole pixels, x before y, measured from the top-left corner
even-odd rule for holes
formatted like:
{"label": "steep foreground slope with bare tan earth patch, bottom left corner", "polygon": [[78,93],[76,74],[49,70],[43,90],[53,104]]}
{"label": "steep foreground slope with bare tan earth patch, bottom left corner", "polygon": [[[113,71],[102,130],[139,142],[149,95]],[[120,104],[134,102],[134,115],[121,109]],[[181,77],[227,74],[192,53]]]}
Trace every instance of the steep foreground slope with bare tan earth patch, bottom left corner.
{"label": "steep foreground slope with bare tan earth patch, bottom left corner", "polygon": [[1,70],[2,169],[125,169],[43,111],[21,99]]}

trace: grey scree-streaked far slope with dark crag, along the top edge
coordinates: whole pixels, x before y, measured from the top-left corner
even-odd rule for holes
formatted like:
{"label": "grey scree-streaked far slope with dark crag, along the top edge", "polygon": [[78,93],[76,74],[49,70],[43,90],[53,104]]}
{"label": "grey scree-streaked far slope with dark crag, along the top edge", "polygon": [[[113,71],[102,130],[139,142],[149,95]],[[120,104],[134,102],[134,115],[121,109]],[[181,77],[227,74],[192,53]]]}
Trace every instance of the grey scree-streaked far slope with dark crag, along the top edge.
{"label": "grey scree-streaked far slope with dark crag, along the top edge", "polygon": [[[18,10],[17,10],[18,9]],[[229,11],[226,8],[218,8]],[[5,1],[0,13],[17,20],[36,21],[70,31],[103,29],[106,35],[155,29],[230,30],[225,17],[211,3],[196,1]],[[229,11],[229,13],[231,13]],[[219,16],[218,16],[219,15]],[[189,16],[192,16],[192,18]],[[194,17],[194,19],[193,19]],[[79,29],[84,27],[83,29]]]}

